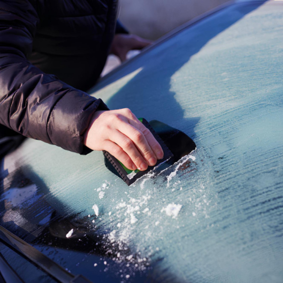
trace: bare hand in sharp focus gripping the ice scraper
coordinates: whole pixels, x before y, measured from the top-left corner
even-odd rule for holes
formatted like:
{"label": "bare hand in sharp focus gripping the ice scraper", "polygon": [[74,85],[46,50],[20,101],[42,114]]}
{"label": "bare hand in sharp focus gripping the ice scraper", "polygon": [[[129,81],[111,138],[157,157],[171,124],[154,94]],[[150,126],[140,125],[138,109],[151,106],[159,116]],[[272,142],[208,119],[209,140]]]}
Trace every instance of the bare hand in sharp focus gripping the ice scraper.
{"label": "bare hand in sharp focus gripping the ice scraper", "polygon": [[164,154],[151,132],[127,108],[96,111],[83,138],[87,147],[108,151],[130,170],[144,171]]}

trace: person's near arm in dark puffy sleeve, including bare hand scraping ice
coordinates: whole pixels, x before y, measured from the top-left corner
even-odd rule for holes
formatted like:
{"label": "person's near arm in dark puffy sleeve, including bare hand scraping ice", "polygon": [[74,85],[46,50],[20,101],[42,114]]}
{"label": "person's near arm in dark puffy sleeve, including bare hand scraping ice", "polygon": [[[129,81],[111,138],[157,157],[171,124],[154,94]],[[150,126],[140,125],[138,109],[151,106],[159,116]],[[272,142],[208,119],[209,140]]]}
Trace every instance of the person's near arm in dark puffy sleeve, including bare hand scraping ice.
{"label": "person's near arm in dark puffy sleeve, including bare hand scraping ice", "polygon": [[[27,61],[38,21],[29,0],[0,0],[0,124],[25,137],[80,154],[85,144],[112,152],[132,168],[142,167],[144,160],[151,165],[150,158],[158,158],[158,152],[161,156],[162,148],[141,123],[132,125],[136,136],[129,137],[129,129],[133,129],[129,128],[130,121],[135,120],[135,115],[126,115],[128,111],[124,110],[116,110],[120,111],[118,116],[113,111],[102,111],[108,108],[101,99],[72,88]],[[113,117],[125,119],[114,123]],[[117,131],[123,132],[124,128],[126,138],[116,141]],[[107,140],[101,132],[107,133]],[[136,155],[133,145],[141,150],[135,151]]]}

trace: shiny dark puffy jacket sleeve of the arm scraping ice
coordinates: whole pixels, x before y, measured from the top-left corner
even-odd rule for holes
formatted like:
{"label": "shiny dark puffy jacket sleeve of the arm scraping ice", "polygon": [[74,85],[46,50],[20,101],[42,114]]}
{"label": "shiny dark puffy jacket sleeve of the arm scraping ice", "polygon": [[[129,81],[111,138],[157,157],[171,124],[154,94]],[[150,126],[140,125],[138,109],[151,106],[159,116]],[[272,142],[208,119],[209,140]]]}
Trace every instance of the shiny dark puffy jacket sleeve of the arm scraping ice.
{"label": "shiny dark puffy jacket sleeve of the arm scraping ice", "polygon": [[0,0],[0,124],[83,154],[92,114],[108,108],[27,61],[38,23],[31,0]]}

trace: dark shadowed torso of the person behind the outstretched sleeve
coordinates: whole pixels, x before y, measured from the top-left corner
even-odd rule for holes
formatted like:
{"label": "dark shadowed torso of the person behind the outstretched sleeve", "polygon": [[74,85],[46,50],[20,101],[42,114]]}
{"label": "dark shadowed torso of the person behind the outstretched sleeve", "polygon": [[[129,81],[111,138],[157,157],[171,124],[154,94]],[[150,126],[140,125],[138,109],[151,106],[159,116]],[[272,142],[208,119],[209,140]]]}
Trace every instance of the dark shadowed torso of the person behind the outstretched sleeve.
{"label": "dark shadowed torso of the person behind the outstretched sleeve", "polygon": [[98,79],[112,42],[117,0],[34,0],[39,25],[29,61],[86,90]]}

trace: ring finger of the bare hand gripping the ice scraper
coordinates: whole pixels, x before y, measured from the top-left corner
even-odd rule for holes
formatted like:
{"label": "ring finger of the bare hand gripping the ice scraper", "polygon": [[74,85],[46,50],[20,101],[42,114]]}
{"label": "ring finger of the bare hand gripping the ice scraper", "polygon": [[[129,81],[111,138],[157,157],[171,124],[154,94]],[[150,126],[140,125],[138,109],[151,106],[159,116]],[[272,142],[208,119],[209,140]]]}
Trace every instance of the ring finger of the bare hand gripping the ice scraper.
{"label": "ring finger of the bare hand gripping the ice scraper", "polygon": [[[127,153],[127,155],[132,159],[133,163],[135,164],[136,169],[138,168],[141,171],[147,169],[147,161],[141,155],[141,152],[138,150],[134,141],[130,137],[125,136],[120,131],[116,131],[116,133],[112,135],[111,140],[117,143]],[[150,165],[153,166],[154,164],[150,164]]]}

